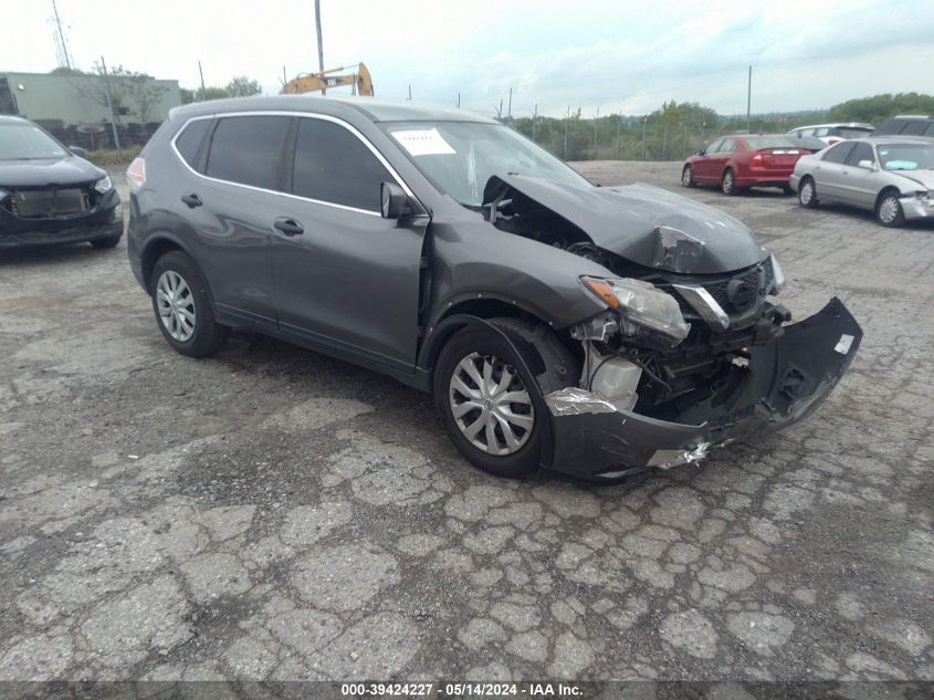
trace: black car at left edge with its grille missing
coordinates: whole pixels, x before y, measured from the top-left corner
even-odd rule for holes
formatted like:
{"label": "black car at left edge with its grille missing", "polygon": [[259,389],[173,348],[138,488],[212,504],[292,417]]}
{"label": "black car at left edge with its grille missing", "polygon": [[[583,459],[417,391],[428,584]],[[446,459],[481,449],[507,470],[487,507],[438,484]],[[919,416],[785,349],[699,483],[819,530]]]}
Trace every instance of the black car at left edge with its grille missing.
{"label": "black car at left edge with its grille missing", "polygon": [[111,178],[40,126],[0,116],[0,248],[113,248],[123,208]]}

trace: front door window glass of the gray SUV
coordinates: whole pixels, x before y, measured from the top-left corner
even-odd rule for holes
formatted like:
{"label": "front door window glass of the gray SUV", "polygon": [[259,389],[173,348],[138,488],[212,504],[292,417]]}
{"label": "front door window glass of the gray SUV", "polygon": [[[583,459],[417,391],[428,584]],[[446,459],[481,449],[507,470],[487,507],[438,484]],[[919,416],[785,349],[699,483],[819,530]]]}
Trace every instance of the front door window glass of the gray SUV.
{"label": "front door window glass of the gray SUV", "polygon": [[379,211],[379,189],[395,182],[372,152],[339,124],[298,121],[292,194],[343,207]]}

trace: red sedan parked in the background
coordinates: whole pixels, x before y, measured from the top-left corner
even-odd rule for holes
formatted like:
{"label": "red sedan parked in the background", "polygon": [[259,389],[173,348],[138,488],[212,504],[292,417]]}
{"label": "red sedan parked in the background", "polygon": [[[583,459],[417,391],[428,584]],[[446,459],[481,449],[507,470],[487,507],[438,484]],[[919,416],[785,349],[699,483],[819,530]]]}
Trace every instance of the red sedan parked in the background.
{"label": "red sedan parked in the background", "polygon": [[746,187],[780,187],[790,195],[788,177],[798,158],[808,153],[787,136],[733,134],[688,158],[681,169],[681,184],[716,185],[724,195],[737,195]]}

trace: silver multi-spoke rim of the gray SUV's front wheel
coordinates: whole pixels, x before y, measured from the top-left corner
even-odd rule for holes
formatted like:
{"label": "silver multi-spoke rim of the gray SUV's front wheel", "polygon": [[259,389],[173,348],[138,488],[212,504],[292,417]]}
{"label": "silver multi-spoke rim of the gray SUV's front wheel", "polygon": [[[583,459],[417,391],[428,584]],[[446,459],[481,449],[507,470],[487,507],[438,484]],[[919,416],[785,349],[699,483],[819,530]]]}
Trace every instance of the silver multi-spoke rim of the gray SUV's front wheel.
{"label": "silver multi-spoke rim of the gray SUV's front wheel", "polygon": [[451,414],[471,445],[487,455],[513,455],[528,441],[535,407],[515,367],[495,355],[471,353],[454,367]]}

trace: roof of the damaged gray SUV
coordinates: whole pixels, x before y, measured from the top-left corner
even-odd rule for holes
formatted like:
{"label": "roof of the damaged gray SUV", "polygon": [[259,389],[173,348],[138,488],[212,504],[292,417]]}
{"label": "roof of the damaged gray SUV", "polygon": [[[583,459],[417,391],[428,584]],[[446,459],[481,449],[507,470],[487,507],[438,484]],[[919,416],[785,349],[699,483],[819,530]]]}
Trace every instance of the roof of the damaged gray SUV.
{"label": "roof of the damaged gray SUV", "polygon": [[495,119],[456,107],[419,102],[397,102],[374,97],[321,97],[315,95],[274,95],[269,97],[234,97],[211,100],[183,107],[175,107],[172,115],[220,114],[224,112],[288,111],[340,113],[354,111],[372,122],[480,122],[497,124]]}

